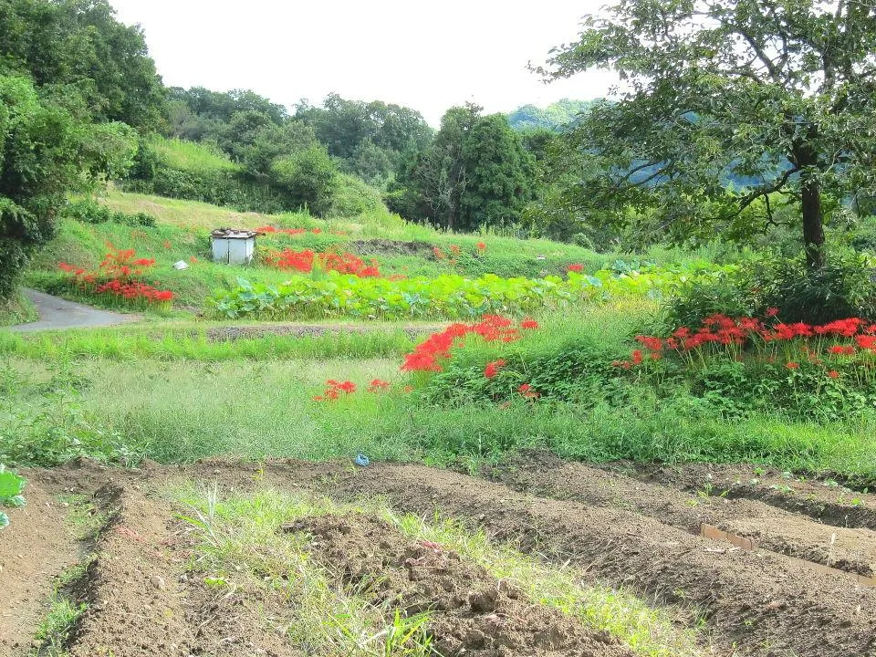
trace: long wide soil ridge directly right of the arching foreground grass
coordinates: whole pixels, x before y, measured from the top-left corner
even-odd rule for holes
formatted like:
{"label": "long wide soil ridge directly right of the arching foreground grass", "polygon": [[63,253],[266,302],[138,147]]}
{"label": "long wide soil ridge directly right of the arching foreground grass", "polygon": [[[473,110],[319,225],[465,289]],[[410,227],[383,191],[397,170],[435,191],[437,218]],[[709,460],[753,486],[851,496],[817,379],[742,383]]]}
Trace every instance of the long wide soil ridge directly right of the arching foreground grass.
{"label": "long wide soil ridge directly right of the arching foreground grass", "polygon": [[629,511],[532,497],[422,466],[286,471],[287,480],[340,498],[386,495],[404,512],[439,509],[525,550],[584,566],[601,581],[690,605],[727,654],[876,656],[876,590],[776,554],[722,549]]}

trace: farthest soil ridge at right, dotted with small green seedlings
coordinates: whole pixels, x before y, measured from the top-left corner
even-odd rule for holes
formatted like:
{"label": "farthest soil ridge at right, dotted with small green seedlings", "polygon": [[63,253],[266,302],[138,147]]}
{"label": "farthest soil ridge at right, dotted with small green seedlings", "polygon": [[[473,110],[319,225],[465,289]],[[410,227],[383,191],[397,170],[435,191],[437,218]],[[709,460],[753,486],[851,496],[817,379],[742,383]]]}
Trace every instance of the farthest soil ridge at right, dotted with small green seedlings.
{"label": "farthest soil ridge at right, dotted with small green seedlings", "polygon": [[756,465],[614,463],[601,469],[689,493],[757,500],[834,527],[876,530],[876,495],[828,478],[800,478]]}

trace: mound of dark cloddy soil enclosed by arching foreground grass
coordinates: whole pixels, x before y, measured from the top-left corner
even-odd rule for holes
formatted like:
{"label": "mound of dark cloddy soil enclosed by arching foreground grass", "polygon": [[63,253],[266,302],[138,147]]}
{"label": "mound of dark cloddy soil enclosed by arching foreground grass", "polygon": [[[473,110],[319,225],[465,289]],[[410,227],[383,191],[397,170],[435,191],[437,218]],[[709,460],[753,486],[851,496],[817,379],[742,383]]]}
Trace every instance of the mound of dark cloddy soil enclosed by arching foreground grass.
{"label": "mound of dark cloddy soil enclosed by arching foreground grass", "polygon": [[368,516],[328,516],[290,531],[313,537],[311,552],[339,584],[385,610],[427,613],[426,631],[441,655],[472,657],[632,657],[606,632],[526,596],[507,580],[467,563],[453,551],[412,541]]}

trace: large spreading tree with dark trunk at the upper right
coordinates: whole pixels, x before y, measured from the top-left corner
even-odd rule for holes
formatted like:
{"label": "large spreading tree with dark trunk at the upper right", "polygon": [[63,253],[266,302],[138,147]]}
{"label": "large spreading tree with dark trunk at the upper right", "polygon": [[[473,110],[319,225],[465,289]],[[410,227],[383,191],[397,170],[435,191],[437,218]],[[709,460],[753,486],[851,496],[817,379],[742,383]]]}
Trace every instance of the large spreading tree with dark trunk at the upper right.
{"label": "large spreading tree with dark trunk at the upper right", "polygon": [[[876,7],[857,0],[622,0],[544,73],[620,74],[572,132],[579,208],[661,215],[674,235],[777,223],[795,203],[823,266],[829,202],[876,192]],[[730,183],[732,182],[732,183]],[[716,223],[717,222],[717,223]]]}

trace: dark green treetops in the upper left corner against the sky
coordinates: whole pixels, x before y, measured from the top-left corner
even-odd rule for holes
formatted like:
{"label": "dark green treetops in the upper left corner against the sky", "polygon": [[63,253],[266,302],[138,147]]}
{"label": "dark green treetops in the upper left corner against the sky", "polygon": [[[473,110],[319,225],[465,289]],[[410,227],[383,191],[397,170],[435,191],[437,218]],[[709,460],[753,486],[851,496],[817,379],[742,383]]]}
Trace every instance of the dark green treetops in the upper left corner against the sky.
{"label": "dark green treetops in the upper left corner against the sky", "polygon": [[164,89],[141,29],[121,25],[105,0],[8,0],[0,44],[5,68],[75,97],[94,120],[151,128],[162,118]]}

